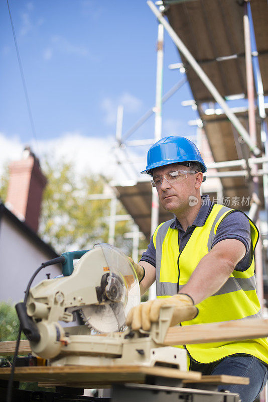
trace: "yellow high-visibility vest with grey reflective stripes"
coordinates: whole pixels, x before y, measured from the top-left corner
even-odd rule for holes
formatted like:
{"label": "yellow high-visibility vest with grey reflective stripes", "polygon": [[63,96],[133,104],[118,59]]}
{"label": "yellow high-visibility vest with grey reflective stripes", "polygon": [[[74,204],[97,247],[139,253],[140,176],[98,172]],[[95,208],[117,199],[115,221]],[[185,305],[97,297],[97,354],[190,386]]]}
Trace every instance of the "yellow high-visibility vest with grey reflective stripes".
{"label": "yellow high-visibility vest with grey reflective stripes", "polygon": [[[170,228],[174,219],[157,227],[153,236],[156,248],[157,297],[170,297],[188,282],[199,261],[211,250],[220,222],[232,212],[234,210],[225,206],[214,205],[205,224],[194,229],[182,252],[179,248],[178,230]],[[258,230],[249,218],[248,220],[251,254],[253,255],[258,241]],[[217,275],[216,266],[215,275]],[[200,286],[206,286],[206,283],[200,283]],[[183,322],[182,326],[260,318],[261,311],[254,276],[254,258],[245,271],[234,269],[215,294],[196,306],[199,309],[197,317]],[[267,338],[185,345],[185,348],[190,358],[200,363],[211,363],[237,353],[249,354],[268,363]]]}

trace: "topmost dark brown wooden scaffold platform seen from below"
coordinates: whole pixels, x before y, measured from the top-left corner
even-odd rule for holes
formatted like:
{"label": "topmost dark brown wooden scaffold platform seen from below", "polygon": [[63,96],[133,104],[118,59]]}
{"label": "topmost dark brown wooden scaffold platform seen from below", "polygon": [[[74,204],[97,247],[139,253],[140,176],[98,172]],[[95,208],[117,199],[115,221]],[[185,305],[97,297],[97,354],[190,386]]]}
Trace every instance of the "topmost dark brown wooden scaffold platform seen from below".
{"label": "topmost dark brown wooden scaffold platform seen from below", "polygon": [[[176,0],[175,0],[176,1]],[[222,96],[246,93],[243,14],[235,0],[196,0],[170,5],[168,20]],[[265,0],[251,3],[263,90],[268,94],[268,8]],[[231,60],[216,58],[237,55]],[[197,102],[213,97],[181,55]],[[266,68],[265,68],[266,66]]]}

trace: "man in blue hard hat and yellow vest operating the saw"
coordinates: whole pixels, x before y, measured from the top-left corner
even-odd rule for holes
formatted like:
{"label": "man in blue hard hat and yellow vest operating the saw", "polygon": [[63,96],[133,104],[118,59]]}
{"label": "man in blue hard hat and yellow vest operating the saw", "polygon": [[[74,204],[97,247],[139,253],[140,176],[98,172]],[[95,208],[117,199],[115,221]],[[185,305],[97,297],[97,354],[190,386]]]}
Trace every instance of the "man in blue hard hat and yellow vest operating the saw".
{"label": "man in blue hard hat and yellow vest operating the saw", "polygon": [[[244,213],[200,195],[206,170],[199,150],[184,137],[163,138],[148,152],[142,173],[152,176],[161,205],[175,218],[158,226],[140,264],[133,262],[141,292],[156,280],[158,297],[129,312],[133,329],[149,330],[164,304],[175,307],[171,325],[261,317],[253,256],[258,231]],[[266,383],[266,338],[185,348],[191,370],[249,377],[250,385],[219,386],[239,393],[243,402],[253,401]]]}

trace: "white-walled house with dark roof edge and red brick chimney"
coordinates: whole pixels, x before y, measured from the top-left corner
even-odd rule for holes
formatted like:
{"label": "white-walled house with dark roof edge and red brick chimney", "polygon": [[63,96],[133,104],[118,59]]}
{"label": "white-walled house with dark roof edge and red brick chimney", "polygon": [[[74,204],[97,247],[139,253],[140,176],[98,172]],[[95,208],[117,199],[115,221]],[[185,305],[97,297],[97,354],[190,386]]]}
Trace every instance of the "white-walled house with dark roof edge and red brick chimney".
{"label": "white-walled house with dark roof edge and red brick chimney", "polygon": [[[22,160],[10,164],[7,201],[0,203],[0,300],[24,298],[29,279],[42,262],[58,257],[37,234],[42,193],[46,185],[38,158],[27,147]],[[44,268],[34,284],[61,274],[60,266]]]}

